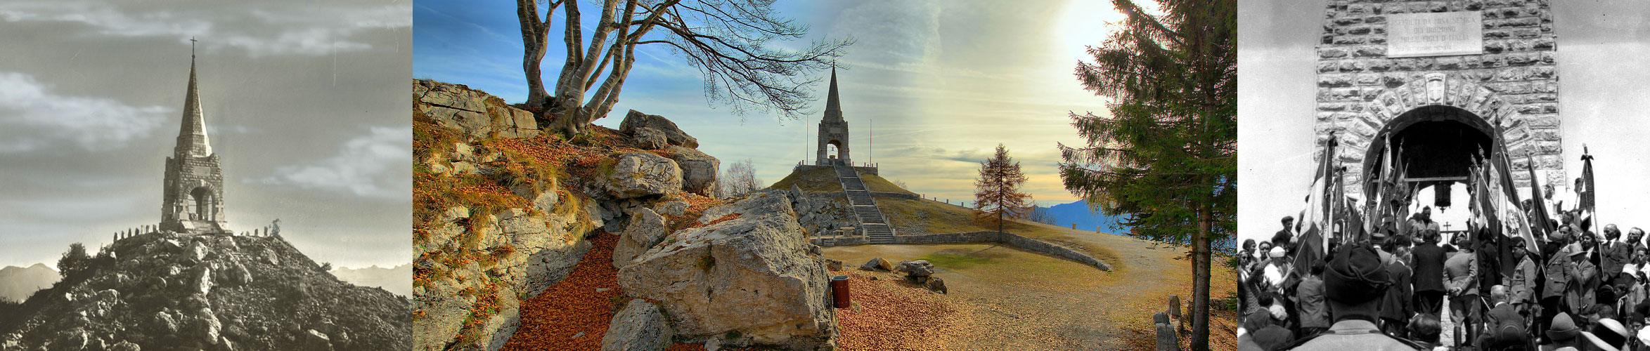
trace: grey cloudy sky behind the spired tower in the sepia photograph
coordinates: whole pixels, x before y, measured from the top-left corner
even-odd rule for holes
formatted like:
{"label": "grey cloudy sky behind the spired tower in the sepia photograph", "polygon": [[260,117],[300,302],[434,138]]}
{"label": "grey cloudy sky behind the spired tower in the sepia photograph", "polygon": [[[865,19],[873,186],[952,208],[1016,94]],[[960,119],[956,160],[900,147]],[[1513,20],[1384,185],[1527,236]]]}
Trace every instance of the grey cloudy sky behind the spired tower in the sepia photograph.
{"label": "grey cloudy sky behind the spired tower in the sepia photograph", "polygon": [[0,265],[160,219],[200,40],[229,227],[280,219],[317,262],[411,249],[404,0],[0,2]]}

